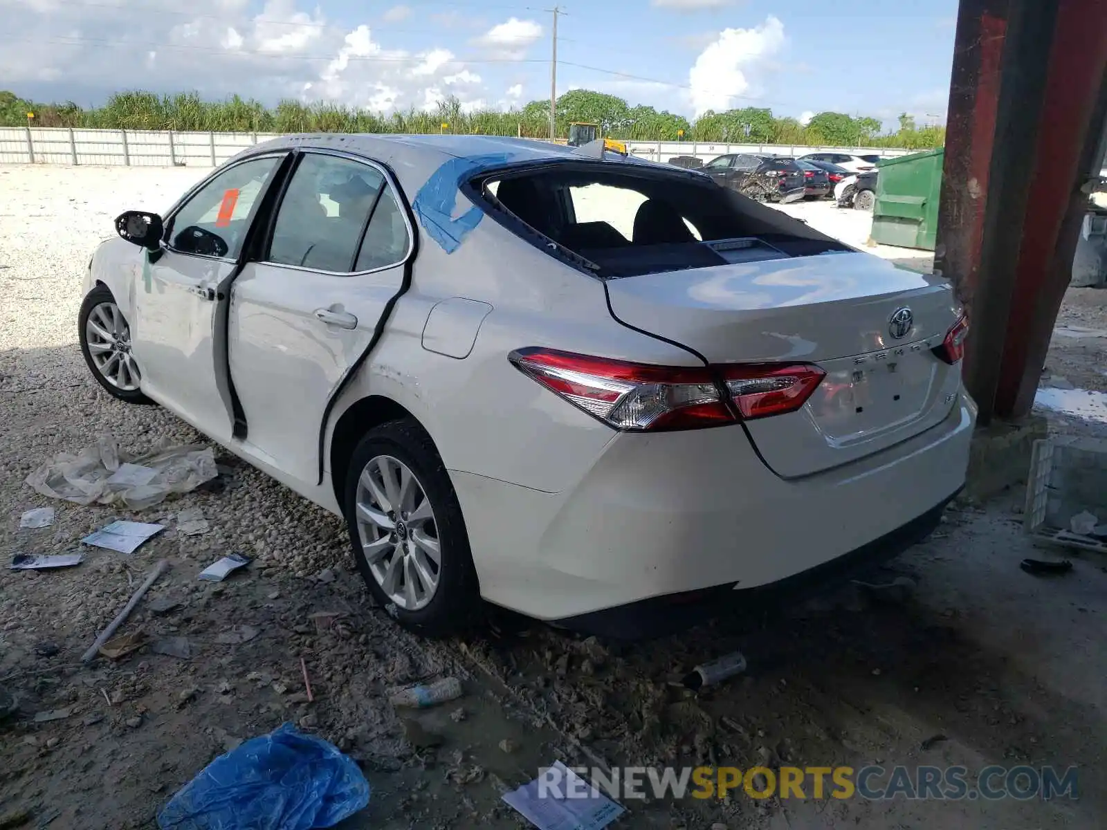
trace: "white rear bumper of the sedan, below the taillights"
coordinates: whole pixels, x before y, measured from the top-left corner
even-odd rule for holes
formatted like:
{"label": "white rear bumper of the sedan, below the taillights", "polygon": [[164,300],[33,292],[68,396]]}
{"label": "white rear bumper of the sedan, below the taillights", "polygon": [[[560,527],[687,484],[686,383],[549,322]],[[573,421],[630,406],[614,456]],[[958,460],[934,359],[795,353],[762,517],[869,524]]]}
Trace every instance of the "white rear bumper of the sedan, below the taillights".
{"label": "white rear bumper of the sedan, below the taillights", "polygon": [[744,595],[873,544],[893,556],[964,484],[974,417],[963,397],[921,435],[793,480],[738,426],[621,434],[565,492],[452,476],[485,599],[587,624],[673,594]]}

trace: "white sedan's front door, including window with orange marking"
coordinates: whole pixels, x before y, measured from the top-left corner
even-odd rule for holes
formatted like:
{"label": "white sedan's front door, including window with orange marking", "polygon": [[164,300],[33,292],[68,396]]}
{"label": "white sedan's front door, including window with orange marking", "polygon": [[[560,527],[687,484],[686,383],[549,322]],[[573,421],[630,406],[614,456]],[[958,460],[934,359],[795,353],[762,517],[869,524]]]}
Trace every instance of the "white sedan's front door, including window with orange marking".
{"label": "white sedan's front door, including window with orange marking", "polygon": [[231,165],[189,194],[166,218],[161,250],[144,253],[134,287],[132,347],[143,392],[217,440],[229,438],[231,427],[217,320],[247,231],[283,157]]}

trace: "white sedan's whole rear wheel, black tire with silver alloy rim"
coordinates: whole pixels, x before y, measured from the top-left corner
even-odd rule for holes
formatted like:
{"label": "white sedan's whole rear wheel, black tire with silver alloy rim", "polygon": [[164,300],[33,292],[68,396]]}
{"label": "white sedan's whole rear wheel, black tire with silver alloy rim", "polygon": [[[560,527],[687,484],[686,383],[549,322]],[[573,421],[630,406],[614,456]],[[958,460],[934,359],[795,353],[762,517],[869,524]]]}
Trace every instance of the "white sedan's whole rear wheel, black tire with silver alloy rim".
{"label": "white sedan's whole rear wheel, black tire with silver alloy rim", "polygon": [[426,430],[404,418],[366,433],[350,460],[344,496],[358,570],[389,614],[425,636],[470,626],[480,592],[468,535]]}

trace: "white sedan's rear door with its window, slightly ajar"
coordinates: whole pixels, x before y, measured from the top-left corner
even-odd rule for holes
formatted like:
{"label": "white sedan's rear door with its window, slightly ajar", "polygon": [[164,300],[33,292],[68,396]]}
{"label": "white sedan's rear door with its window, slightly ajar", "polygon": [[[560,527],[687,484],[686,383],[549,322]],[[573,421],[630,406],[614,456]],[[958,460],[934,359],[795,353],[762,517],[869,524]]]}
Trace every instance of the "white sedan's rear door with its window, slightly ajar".
{"label": "white sedan's rear door with its window, slightly ajar", "polygon": [[328,402],[403,289],[414,236],[395,187],[382,166],[306,151],[259,261],[231,287],[244,448],[310,486]]}

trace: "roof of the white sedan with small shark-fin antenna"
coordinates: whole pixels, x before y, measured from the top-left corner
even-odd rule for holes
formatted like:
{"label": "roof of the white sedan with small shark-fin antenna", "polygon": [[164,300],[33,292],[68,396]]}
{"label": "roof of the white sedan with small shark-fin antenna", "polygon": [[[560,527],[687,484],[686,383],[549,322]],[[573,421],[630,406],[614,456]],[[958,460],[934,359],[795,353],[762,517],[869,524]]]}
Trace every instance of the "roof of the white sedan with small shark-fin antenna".
{"label": "roof of the white sedan with small shark-fin antenna", "polygon": [[[386,164],[404,190],[414,195],[444,164],[455,158],[474,162],[474,172],[482,167],[500,167],[511,164],[581,159],[578,147],[534,138],[513,138],[498,135],[403,135],[379,133],[314,133],[286,135],[249,147],[235,158],[257,153],[296,147],[330,149],[351,153]],[[594,159],[600,160],[600,159]],[[674,170],[672,165],[659,164],[637,156],[606,154],[603,162],[641,164]]]}

